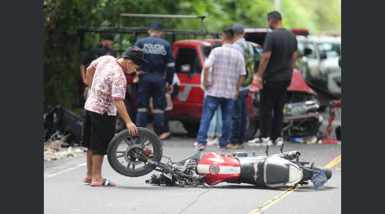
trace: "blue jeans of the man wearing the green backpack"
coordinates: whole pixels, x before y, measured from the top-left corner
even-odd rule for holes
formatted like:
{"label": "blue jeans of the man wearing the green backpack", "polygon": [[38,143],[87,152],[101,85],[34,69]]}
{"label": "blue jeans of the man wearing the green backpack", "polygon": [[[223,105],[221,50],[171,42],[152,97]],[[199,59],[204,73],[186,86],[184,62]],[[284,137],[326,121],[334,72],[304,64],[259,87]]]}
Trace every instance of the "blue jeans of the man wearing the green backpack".
{"label": "blue jeans of the man wearing the green backpack", "polygon": [[247,126],[247,97],[248,90],[239,91],[238,98],[234,101],[231,121],[230,143],[242,144],[245,141],[245,132]]}

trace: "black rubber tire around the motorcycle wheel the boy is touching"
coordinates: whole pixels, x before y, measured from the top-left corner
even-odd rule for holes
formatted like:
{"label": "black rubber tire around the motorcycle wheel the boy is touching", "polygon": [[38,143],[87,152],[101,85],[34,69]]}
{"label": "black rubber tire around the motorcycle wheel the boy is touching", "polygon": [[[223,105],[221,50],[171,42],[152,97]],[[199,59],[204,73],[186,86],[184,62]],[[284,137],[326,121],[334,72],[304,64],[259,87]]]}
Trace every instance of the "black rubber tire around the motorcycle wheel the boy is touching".
{"label": "black rubber tire around the motorcycle wheel the boy is touching", "polygon": [[[162,159],[162,153],[163,153],[163,148],[162,148],[162,142],[160,138],[151,130],[143,127],[138,127],[138,133],[133,136],[128,133],[127,129],[124,129],[123,131],[119,132],[110,142],[107,148],[107,159],[108,162],[110,163],[111,167],[118,172],[121,175],[128,176],[128,177],[140,177],[149,174],[154,170],[156,167],[153,164],[145,164],[143,163],[143,166],[138,169],[130,169],[128,165],[127,167],[120,163],[121,160],[118,160],[116,153],[117,153],[117,148],[119,146],[122,146],[123,148],[126,147],[126,150],[130,148],[128,144],[122,143],[125,142],[126,139],[128,138],[133,138],[135,137],[136,139],[146,139],[146,141],[149,141],[152,145],[152,152],[154,153],[154,160],[160,162]],[[138,141],[133,141],[135,145],[140,146]],[[121,145],[122,144],[122,145]],[[144,147],[144,146],[143,146]],[[122,153],[122,152],[118,152]],[[135,160],[134,160],[135,161]],[[127,163],[127,162],[126,162]],[[135,166],[135,164],[133,164]]]}

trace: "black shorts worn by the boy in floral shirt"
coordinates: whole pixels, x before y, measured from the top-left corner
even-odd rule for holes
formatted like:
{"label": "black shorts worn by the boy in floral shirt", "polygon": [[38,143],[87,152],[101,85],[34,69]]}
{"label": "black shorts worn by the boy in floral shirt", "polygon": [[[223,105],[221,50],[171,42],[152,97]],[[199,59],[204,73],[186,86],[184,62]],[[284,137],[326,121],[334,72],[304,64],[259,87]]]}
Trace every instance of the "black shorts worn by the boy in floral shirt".
{"label": "black shorts worn by the boy in floral shirt", "polygon": [[97,155],[106,155],[108,144],[115,137],[116,116],[84,109],[80,145]]}

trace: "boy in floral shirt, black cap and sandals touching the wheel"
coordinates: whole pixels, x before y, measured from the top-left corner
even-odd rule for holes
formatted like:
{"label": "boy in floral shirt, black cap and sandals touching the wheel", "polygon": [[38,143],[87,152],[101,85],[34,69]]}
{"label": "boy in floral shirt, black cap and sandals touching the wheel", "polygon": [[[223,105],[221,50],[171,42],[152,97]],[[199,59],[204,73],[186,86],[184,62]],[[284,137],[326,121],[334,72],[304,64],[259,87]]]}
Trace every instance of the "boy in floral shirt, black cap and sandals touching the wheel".
{"label": "boy in floral shirt, black cap and sandals touching the wheel", "polygon": [[123,102],[127,86],[125,73],[135,72],[144,61],[140,48],[129,47],[122,58],[101,56],[87,68],[91,92],[84,106],[80,144],[88,148],[83,182],[91,183],[91,186],[115,186],[115,182],[102,178],[101,166],[108,144],[115,136],[116,111],[125,121],[129,133],[137,133]]}

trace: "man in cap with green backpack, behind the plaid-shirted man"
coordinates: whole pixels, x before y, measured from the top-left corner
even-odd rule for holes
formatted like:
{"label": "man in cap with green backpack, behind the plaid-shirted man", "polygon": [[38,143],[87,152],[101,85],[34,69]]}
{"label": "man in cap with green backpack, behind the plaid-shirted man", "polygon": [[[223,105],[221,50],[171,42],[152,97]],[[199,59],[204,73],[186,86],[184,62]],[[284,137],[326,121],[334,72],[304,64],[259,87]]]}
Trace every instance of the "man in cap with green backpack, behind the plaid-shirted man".
{"label": "man in cap with green backpack, behind the plaid-shirted man", "polygon": [[[254,51],[252,46],[245,40],[245,29],[240,24],[232,26],[234,31],[234,43],[232,47],[243,54],[246,65],[246,75],[242,79],[242,84],[239,89],[238,97],[234,101],[231,121],[231,136],[229,139],[228,148],[238,149],[243,148],[243,144],[247,125],[247,97],[249,96],[249,85],[252,81],[254,71]],[[241,68],[239,68],[241,70]]]}

